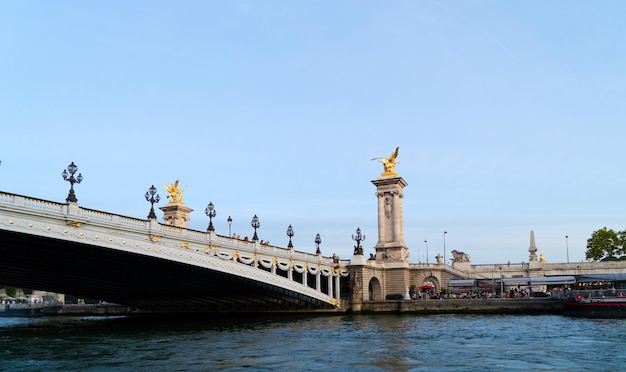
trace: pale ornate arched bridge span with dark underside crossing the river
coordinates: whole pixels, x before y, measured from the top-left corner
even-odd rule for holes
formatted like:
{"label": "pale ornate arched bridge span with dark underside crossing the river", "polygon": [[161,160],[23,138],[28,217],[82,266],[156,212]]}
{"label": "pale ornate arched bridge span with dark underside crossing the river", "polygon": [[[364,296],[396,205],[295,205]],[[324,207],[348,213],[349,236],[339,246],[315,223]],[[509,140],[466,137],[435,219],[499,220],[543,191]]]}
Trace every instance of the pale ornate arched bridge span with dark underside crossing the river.
{"label": "pale ornate arched bridge span with dark underside crossing the river", "polygon": [[0,285],[138,312],[345,311],[348,260],[0,192]]}

